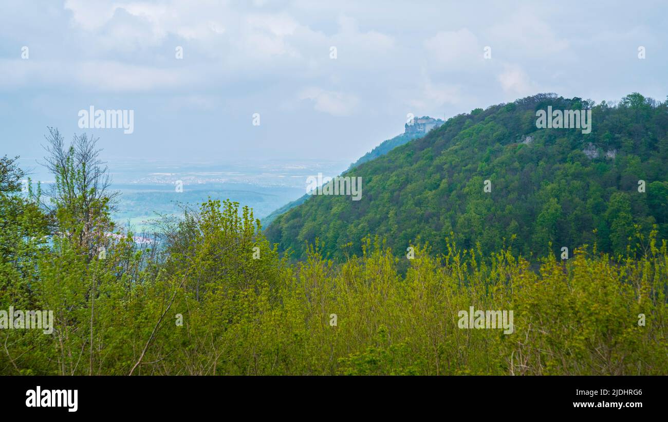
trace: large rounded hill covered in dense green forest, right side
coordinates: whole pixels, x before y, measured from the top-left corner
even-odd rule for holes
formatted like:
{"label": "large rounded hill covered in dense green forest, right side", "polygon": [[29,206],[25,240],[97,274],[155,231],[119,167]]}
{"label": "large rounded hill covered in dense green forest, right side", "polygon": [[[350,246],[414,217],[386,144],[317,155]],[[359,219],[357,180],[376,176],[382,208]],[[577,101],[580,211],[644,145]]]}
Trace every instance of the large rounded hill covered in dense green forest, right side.
{"label": "large rounded hill covered in dense green forest, right side", "polygon": [[[591,133],[536,128],[536,112],[549,105],[591,108]],[[267,236],[297,258],[316,238],[331,257],[360,254],[367,234],[395,254],[418,237],[436,252],[447,237],[484,253],[505,243],[544,256],[550,242],[555,253],[594,243],[622,253],[654,225],[668,238],[667,130],[668,101],[639,93],[598,105],[538,94],[476,109],[346,172],[362,178],[360,200],[314,196],[279,216]]]}

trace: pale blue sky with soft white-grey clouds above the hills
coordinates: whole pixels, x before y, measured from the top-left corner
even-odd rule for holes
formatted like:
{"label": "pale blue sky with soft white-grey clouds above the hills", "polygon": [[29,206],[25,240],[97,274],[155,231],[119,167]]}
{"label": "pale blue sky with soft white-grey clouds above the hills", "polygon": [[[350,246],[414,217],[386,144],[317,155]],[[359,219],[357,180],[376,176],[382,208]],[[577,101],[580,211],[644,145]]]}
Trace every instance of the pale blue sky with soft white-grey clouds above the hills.
{"label": "pale blue sky with soft white-grey clouds above the hills", "polygon": [[352,162],[408,113],[666,99],[665,3],[506,3],[0,0],[0,154],[90,133],[91,105],[134,110],[132,134],[92,131],[110,160]]}

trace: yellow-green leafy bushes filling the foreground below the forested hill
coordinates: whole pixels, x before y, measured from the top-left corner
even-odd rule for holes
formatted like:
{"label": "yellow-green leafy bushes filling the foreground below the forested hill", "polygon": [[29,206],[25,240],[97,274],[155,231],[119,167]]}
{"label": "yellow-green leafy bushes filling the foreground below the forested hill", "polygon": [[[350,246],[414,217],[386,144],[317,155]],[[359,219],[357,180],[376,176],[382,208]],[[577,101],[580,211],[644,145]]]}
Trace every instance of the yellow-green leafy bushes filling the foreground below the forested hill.
{"label": "yellow-green leafy bushes filling the foreground below the forested hill", "polygon": [[[0,308],[53,310],[54,332],[0,331],[0,373],[668,373],[668,251],[655,232],[620,260],[583,248],[538,268],[452,240],[445,254],[416,244],[407,260],[368,237],[345,262],[311,246],[291,264],[235,203],[206,202],[174,224],[159,254],[120,237],[100,260],[55,236],[24,255],[33,271],[2,284]],[[3,274],[21,267],[3,255]],[[514,333],[459,329],[469,306],[514,310]]]}

